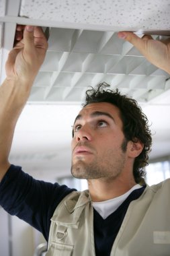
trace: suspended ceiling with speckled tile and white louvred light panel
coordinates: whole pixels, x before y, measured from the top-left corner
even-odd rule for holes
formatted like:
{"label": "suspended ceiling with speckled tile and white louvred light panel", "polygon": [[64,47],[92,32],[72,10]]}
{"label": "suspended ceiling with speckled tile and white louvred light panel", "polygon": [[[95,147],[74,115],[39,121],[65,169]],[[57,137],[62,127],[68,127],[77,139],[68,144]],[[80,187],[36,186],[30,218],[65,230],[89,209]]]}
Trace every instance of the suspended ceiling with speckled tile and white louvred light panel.
{"label": "suspended ceiling with speckled tile and white louvred light panel", "polygon": [[[16,2],[7,1],[3,6],[5,1],[1,0],[1,21],[8,25],[12,20],[12,24],[48,22],[50,33],[46,59],[30,102],[82,102],[87,86],[103,81],[140,102],[169,89],[169,75],[148,63],[116,34],[119,30],[169,34],[169,1]],[[13,35],[15,26],[6,28],[9,35],[8,30],[13,30]]]}

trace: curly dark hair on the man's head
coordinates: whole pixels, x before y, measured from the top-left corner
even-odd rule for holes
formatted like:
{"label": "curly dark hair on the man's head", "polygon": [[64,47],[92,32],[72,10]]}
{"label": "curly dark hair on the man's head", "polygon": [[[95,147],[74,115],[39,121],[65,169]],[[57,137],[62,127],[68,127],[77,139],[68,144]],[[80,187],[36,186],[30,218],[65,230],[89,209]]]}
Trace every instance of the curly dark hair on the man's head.
{"label": "curly dark hair on the man's head", "polygon": [[140,155],[135,158],[133,166],[134,180],[136,183],[143,183],[146,175],[144,166],[148,165],[148,153],[151,151],[152,144],[148,119],[142,113],[142,109],[136,100],[120,94],[118,89],[113,91],[107,87],[110,87],[110,85],[103,82],[96,88],[87,90],[83,106],[95,102],[108,102],[119,108],[126,141],[136,142],[139,139],[144,144],[144,148]]}

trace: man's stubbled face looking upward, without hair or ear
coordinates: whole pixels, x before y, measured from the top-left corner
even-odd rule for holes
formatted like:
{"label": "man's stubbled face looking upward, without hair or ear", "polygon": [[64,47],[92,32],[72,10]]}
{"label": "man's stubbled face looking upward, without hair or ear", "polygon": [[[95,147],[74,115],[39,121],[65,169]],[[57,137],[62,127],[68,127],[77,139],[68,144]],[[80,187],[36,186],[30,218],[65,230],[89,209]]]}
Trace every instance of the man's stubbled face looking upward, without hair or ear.
{"label": "man's stubbled face looking upward, without hair or ear", "polygon": [[116,178],[126,168],[119,109],[108,102],[85,106],[75,119],[71,172],[79,179]]}

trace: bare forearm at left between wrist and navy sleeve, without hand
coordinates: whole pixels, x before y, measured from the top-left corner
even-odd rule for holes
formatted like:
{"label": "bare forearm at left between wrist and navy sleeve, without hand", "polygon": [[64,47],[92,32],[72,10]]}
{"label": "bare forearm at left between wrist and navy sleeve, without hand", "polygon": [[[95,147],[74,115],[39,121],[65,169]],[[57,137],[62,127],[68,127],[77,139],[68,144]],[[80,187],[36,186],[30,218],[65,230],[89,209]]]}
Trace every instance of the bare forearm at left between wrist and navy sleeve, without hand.
{"label": "bare forearm at left between wrist and navy sleeve, without hand", "polygon": [[9,168],[9,152],[17,119],[30,95],[32,84],[7,80],[0,87],[0,181]]}

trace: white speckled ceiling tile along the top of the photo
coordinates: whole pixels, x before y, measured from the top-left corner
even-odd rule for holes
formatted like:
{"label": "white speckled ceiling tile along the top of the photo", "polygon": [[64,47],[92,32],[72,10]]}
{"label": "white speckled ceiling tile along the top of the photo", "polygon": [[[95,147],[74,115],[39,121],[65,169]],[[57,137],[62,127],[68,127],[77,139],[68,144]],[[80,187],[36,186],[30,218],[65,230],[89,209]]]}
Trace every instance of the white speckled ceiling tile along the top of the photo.
{"label": "white speckled ceiling tile along the top of the photo", "polygon": [[39,20],[169,30],[169,0],[23,0],[21,16]]}

